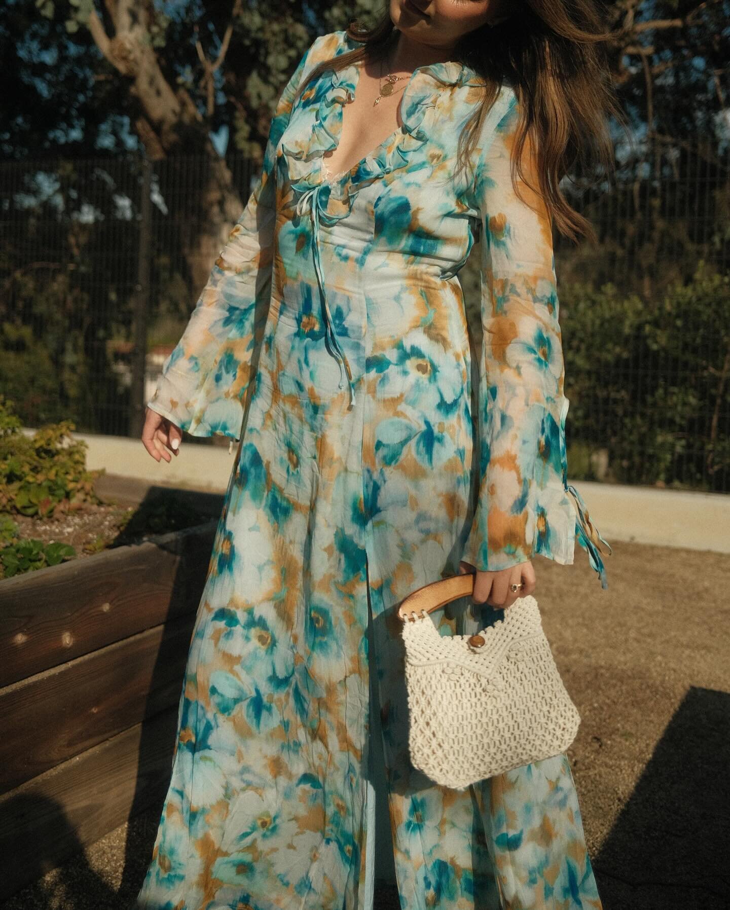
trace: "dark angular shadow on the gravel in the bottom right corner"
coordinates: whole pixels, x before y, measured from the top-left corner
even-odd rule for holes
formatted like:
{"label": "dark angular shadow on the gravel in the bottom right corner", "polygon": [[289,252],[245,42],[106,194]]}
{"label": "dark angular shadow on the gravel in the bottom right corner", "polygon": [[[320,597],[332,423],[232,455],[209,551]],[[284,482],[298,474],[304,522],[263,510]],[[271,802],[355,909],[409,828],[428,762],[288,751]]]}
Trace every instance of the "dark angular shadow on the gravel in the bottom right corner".
{"label": "dark angular shadow on the gravel in the bottom right corner", "polygon": [[730,694],[693,686],[593,860],[607,910],[730,907],[728,767]]}

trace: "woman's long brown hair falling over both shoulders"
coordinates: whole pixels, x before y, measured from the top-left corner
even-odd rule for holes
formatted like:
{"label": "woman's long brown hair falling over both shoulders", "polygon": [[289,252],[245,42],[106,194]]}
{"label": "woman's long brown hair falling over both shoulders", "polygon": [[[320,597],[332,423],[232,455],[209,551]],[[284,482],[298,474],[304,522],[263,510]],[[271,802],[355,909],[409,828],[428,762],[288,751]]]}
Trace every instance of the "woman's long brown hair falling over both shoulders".
{"label": "woman's long brown hair falling over both shoulders", "polygon": [[[509,18],[463,35],[454,49],[454,59],[470,66],[484,83],[482,103],[475,107],[459,137],[454,176],[471,169],[485,117],[502,82],[509,81],[520,108],[511,164],[515,190],[519,175],[532,192],[542,196],[565,237],[576,240],[583,234],[593,242],[597,238],[591,222],[568,204],[560,181],[576,165],[589,173],[595,162],[613,173],[609,115],[628,135],[602,46],[607,30],[600,2],[521,0],[512,5]],[[300,91],[328,69],[338,71],[361,59],[382,59],[394,31],[388,7],[370,29],[358,21],[350,22],[347,34],[362,46],[315,66]],[[524,147],[532,136],[539,187],[525,173]]]}

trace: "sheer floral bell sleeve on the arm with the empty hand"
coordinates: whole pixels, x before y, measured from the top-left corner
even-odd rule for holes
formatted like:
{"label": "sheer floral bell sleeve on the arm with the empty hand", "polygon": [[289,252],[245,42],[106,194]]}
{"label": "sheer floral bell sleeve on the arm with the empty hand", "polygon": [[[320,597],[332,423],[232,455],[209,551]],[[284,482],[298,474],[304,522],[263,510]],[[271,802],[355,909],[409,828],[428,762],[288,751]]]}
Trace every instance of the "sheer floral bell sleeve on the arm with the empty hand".
{"label": "sheer floral bell sleeve on the arm with the empty hand", "polygon": [[258,182],[147,401],[148,408],[193,436],[240,436],[251,359],[269,309],[276,149],[308,56],[309,51],[279,98]]}

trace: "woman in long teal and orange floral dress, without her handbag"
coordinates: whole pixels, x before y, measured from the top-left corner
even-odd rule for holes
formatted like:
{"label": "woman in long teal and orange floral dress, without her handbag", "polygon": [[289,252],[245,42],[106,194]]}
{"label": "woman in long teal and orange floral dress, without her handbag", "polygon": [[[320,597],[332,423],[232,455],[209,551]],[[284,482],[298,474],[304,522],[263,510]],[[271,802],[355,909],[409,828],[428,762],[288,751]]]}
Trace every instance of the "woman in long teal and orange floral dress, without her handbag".
{"label": "woman in long teal and orange floral dress, without her handbag", "polygon": [[[566,480],[550,225],[588,227],[567,150],[610,154],[590,3],[390,0],[280,98],[143,435],[167,461],[181,430],[239,442],[140,907],[371,910],[380,735],[404,910],[601,906],[564,754],[463,792],[412,768],[395,618],[476,571],[440,627],[474,632],[576,539],[606,586]],[[477,363],[457,272],[480,234]]]}

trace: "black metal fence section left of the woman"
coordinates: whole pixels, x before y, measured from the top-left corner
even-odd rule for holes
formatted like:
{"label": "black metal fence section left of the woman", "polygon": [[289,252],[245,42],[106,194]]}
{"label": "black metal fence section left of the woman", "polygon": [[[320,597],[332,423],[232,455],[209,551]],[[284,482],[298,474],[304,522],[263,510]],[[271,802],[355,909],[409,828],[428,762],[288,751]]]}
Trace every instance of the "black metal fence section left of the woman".
{"label": "black metal fence section left of the woman", "polygon": [[[229,229],[256,168],[227,165]],[[200,211],[216,208],[216,167],[136,156],[0,165],[0,394],[26,425],[141,430],[222,246]]]}

